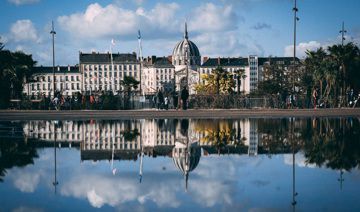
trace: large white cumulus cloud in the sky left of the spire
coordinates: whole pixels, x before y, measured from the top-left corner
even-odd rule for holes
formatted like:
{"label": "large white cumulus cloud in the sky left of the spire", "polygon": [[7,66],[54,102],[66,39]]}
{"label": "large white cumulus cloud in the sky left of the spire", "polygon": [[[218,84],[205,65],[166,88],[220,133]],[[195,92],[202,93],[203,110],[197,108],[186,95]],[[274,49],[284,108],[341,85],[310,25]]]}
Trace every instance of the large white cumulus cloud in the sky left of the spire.
{"label": "large white cumulus cloud in the sky left of the spire", "polygon": [[57,21],[63,30],[72,36],[99,38],[102,36],[120,36],[134,39],[138,29],[146,29],[145,34],[156,32],[172,32],[179,30],[175,20],[175,13],[180,9],[177,3],[157,3],[153,9],[147,11],[138,8],[136,11],[123,9],[110,4],[105,7],[98,3],[91,4],[85,13],[79,12],[70,16],[60,16]]}

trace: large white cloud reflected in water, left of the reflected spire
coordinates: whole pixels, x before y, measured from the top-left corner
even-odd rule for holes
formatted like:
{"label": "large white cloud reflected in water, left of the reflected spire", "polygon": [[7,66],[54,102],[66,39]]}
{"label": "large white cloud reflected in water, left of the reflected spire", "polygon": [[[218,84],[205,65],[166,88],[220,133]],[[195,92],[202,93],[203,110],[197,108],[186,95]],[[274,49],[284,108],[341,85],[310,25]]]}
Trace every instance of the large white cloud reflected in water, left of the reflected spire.
{"label": "large white cloud reflected in water, left of the reflected spire", "polygon": [[116,177],[107,175],[73,176],[61,187],[60,194],[87,198],[91,206],[97,208],[104,204],[115,207],[134,200],[138,200],[141,204],[152,200],[158,207],[177,208],[180,206],[181,202],[175,196],[175,191],[178,190],[176,186],[178,181],[174,180],[174,177],[148,174],[149,179],[157,179],[157,181],[139,184],[138,179],[134,176],[137,174],[122,174]]}

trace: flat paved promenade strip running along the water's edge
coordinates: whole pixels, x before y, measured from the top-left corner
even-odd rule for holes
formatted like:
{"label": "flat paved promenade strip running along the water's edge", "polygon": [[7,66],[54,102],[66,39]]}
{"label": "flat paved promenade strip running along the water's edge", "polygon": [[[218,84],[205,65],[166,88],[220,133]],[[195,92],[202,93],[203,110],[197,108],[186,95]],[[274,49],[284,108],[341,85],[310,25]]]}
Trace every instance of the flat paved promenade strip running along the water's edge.
{"label": "flat paved promenade strip running along the water's edge", "polygon": [[182,119],[182,118],[286,118],[353,117],[360,108],[342,109],[243,109],[243,110],[0,110],[0,120]]}

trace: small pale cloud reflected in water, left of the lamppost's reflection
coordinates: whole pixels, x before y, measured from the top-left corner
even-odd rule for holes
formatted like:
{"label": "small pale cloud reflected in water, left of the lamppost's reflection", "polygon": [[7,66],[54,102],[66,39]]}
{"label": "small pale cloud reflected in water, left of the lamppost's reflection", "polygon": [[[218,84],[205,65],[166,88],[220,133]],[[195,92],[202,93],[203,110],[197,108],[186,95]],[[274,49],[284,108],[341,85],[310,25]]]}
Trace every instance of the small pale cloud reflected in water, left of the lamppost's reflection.
{"label": "small pale cloud reflected in water, left of the lamppost's reflection", "polygon": [[33,173],[24,170],[16,170],[11,173],[14,187],[22,192],[33,193],[40,182],[40,171]]}

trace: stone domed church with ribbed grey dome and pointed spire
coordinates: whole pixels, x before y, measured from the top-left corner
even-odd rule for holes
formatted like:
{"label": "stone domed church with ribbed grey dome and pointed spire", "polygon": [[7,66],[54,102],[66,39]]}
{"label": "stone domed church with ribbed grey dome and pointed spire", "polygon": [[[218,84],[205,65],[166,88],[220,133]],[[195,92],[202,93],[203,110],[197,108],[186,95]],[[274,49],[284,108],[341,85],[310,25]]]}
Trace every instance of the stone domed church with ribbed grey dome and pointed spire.
{"label": "stone domed church with ribbed grey dome and pointed spire", "polygon": [[183,87],[186,86],[186,64],[189,67],[189,94],[193,94],[194,85],[199,81],[198,68],[201,65],[201,55],[198,47],[188,39],[188,31],[186,29],[185,19],[185,31],[184,39],[179,41],[175,45],[172,51],[172,65],[175,66],[175,86],[176,92],[180,94]]}

